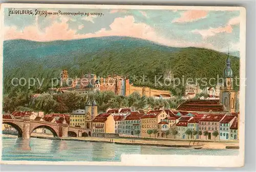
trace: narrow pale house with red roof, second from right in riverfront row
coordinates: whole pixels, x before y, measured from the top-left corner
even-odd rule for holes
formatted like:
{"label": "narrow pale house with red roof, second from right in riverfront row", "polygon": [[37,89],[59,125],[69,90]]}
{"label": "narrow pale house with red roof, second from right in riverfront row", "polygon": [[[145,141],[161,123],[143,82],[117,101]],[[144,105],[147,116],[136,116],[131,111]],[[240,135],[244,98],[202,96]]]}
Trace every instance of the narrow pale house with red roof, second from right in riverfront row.
{"label": "narrow pale house with red roof, second from right in riverfront row", "polygon": [[230,139],[230,127],[233,124],[233,121],[236,119],[236,116],[226,115],[220,121],[220,140],[229,140]]}

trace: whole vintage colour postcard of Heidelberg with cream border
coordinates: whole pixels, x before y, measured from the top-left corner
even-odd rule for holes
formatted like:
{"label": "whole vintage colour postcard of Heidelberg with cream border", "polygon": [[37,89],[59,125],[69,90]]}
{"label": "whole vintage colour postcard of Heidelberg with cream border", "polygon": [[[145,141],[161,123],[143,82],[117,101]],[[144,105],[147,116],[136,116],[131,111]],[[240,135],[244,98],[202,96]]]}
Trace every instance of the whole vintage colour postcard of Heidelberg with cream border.
{"label": "whole vintage colour postcard of Heidelberg with cream border", "polygon": [[243,166],[245,14],[2,4],[1,163]]}

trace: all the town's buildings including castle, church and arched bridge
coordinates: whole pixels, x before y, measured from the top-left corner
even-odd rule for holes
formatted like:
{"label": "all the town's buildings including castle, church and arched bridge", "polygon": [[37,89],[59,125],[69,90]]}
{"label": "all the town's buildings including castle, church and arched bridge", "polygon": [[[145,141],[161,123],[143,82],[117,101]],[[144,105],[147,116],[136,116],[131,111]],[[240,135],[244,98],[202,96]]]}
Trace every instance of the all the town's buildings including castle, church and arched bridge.
{"label": "all the town's buildings including castle, church and arched bridge", "polygon": [[[61,84],[68,78],[68,71],[63,69]],[[233,71],[229,57],[226,60],[224,79],[223,84],[204,90],[198,85],[186,85],[183,102],[177,108],[146,105],[137,110],[132,107],[119,107],[108,108],[105,112],[99,113],[97,102],[88,99],[83,109],[76,109],[71,113],[13,111],[3,114],[3,133],[8,134],[17,130],[18,137],[25,139],[39,133],[53,134],[55,137],[238,140],[239,92],[233,90]],[[100,78],[90,73],[82,78],[76,77],[72,86],[51,88],[50,91],[55,94],[58,91],[74,91],[79,94],[112,91],[122,96],[137,92],[141,96],[161,100],[172,97],[169,91],[133,86],[126,77],[114,75]],[[202,92],[208,96],[195,99],[195,96]],[[31,123],[31,128],[32,121],[36,127],[27,133],[26,122]],[[21,125],[23,122],[24,125]]]}

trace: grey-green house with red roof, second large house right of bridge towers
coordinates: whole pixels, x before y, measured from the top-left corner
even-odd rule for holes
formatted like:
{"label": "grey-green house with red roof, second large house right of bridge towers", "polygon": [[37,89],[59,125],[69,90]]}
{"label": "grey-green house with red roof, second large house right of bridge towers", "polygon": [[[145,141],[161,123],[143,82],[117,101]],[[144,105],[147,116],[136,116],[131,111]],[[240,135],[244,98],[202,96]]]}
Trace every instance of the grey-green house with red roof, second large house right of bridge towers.
{"label": "grey-green house with red roof, second large house right of bridge towers", "polygon": [[125,116],[121,123],[121,134],[140,136],[140,133],[137,134],[137,132],[140,132],[141,116],[143,116],[143,114],[139,112],[130,112],[129,115]]}

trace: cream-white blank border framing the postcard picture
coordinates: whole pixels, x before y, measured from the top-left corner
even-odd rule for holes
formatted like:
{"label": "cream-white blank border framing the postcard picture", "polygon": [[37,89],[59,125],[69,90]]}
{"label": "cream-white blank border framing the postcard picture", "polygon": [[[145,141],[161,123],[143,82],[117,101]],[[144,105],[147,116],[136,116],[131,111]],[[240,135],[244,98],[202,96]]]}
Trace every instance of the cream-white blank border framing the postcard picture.
{"label": "cream-white blank border framing the postcard picture", "polygon": [[[4,8],[79,8],[79,9],[140,9],[140,10],[214,10],[240,11],[240,79],[245,79],[245,30],[246,10],[244,7],[204,7],[204,6],[138,6],[138,5],[63,5],[63,4],[2,4],[1,5],[1,48],[0,79],[3,83],[3,41],[4,41]],[[57,165],[118,165],[118,166],[207,166],[207,167],[241,167],[244,165],[245,136],[245,84],[240,80],[240,120],[239,120],[239,155],[238,156],[197,156],[197,155],[122,155],[121,162],[49,162],[49,161],[2,161],[2,164],[57,164]],[[0,85],[3,95],[3,84]],[[3,96],[0,96],[0,112],[2,114]],[[2,115],[0,116],[2,124]],[[2,137],[0,137],[0,158],[2,158]]]}

